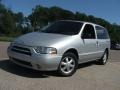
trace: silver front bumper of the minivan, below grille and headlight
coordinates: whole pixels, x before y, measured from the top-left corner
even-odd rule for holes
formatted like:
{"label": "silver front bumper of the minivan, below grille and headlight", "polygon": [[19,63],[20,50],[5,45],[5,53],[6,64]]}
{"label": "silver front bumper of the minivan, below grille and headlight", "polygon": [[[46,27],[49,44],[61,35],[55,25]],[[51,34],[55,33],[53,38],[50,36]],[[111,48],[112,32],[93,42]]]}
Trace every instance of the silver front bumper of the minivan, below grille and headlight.
{"label": "silver front bumper of the minivan, below grille and headlight", "polygon": [[29,47],[31,55],[17,53],[8,48],[8,56],[14,63],[40,71],[57,70],[62,56],[50,54],[36,54],[33,48]]}

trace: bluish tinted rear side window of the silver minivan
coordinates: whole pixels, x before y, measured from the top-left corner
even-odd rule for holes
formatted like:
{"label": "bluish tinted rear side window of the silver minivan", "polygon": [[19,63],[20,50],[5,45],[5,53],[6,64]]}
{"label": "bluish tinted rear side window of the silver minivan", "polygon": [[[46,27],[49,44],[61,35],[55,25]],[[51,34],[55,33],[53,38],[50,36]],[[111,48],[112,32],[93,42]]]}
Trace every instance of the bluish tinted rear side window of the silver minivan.
{"label": "bluish tinted rear side window of the silver minivan", "polygon": [[100,27],[100,26],[96,26],[95,28],[96,28],[98,39],[108,39],[109,38],[108,32],[105,28]]}

